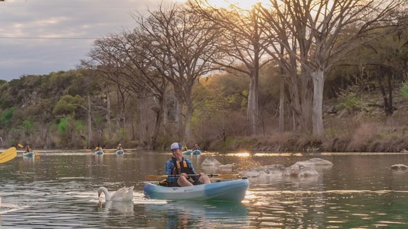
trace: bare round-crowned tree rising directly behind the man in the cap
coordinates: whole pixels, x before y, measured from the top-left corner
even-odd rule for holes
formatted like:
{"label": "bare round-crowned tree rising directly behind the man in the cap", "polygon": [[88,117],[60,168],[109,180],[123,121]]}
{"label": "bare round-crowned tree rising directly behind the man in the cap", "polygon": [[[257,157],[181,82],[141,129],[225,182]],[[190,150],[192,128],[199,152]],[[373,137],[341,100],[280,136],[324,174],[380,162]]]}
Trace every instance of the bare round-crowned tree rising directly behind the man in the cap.
{"label": "bare round-crowned tree rising directly behind the man in the cap", "polygon": [[168,7],[162,4],[156,12],[150,12],[147,19],[136,19],[157,51],[154,58],[168,67],[161,73],[173,86],[179,120],[185,124],[181,137],[187,141],[192,138],[192,87],[199,77],[210,71],[210,60],[218,53],[216,41],[221,30],[215,23],[203,21],[199,15],[189,12],[187,6],[178,4]]}

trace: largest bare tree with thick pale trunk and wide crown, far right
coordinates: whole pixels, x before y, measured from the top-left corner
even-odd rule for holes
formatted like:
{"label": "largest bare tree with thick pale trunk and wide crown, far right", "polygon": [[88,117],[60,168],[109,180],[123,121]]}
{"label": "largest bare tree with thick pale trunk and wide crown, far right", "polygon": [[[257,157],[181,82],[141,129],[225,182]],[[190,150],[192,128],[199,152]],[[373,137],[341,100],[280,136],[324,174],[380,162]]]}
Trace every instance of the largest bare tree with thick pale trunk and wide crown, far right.
{"label": "largest bare tree with thick pale trunk and wide crown, far right", "polygon": [[[323,137],[323,86],[324,76],[331,67],[356,47],[371,39],[383,36],[405,25],[394,21],[401,17],[398,8],[404,0],[270,0],[273,9],[259,7],[265,22],[276,27],[276,17],[285,19],[296,46],[288,46],[286,34],[276,33],[274,42],[285,46],[289,55],[298,56],[303,77],[311,76],[313,82],[312,131]],[[402,18],[405,16],[402,16]],[[280,20],[283,23],[283,20]],[[358,28],[348,34],[350,26]],[[383,28],[383,30],[378,30]],[[281,36],[283,35],[283,36]],[[300,53],[300,54],[299,54]],[[296,63],[296,65],[297,65]],[[297,68],[297,66],[293,66]],[[293,92],[293,91],[292,91]]]}

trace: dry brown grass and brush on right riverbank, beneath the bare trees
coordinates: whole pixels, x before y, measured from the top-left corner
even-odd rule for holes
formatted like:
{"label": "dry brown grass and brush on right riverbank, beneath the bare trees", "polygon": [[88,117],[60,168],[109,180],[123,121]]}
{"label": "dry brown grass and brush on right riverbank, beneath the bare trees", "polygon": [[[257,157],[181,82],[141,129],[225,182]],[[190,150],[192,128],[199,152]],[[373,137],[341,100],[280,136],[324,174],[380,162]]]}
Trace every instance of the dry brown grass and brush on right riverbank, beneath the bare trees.
{"label": "dry brown grass and brush on right riverbank, beneath the bare trees", "polygon": [[[401,100],[394,104],[398,109],[386,117],[380,101],[366,102],[360,111],[327,113],[324,117],[325,138],[312,134],[294,136],[290,131],[292,120],[285,120],[287,132],[278,134],[278,120],[266,117],[260,127],[263,135],[245,137],[247,120],[245,113],[231,112],[227,118],[214,118],[205,122],[199,138],[207,149],[256,150],[276,152],[397,152],[408,150],[408,107]],[[221,135],[226,129],[226,137]],[[198,133],[198,132],[196,132]],[[197,136],[198,136],[197,135]]]}

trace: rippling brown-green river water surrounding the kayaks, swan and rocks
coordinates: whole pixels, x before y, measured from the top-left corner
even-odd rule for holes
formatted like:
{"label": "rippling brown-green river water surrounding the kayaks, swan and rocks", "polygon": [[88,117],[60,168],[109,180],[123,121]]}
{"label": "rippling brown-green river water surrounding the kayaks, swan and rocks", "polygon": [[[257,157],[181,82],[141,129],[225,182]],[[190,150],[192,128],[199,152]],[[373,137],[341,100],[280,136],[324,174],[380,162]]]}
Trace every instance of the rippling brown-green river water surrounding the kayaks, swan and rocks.
{"label": "rippling brown-green river water surrounding the kayaks, swan and rocks", "polygon": [[[236,163],[213,171],[227,174],[312,158],[334,165],[313,178],[249,179],[240,204],[146,199],[146,175],[162,175],[171,156],[168,151],[40,151],[30,158],[19,152],[0,164],[0,228],[408,228],[408,172],[390,169],[408,165],[406,153],[186,155],[196,171],[203,171],[207,157]],[[99,186],[110,193],[134,186],[133,202],[106,203],[98,198]]]}

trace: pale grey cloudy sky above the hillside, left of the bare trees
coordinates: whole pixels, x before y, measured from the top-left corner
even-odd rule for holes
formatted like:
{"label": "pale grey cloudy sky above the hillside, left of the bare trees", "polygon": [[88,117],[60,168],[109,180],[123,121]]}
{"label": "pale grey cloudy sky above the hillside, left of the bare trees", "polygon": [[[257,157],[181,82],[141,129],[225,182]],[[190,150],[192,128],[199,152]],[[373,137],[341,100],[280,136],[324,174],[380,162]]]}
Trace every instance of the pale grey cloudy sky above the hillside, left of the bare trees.
{"label": "pale grey cloudy sky above the hillside, left of the bare trees", "polygon": [[[162,0],[0,1],[0,79],[76,69],[96,39],[132,30]],[[163,0],[163,3],[183,2]]]}

